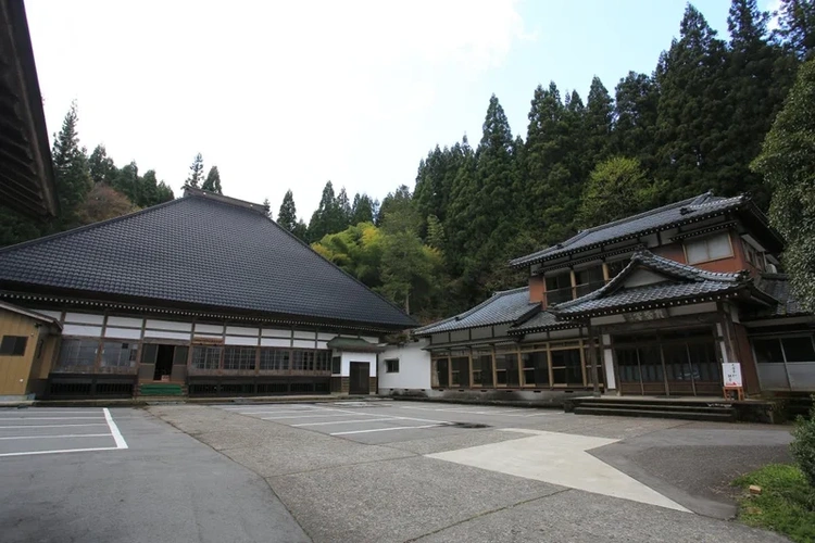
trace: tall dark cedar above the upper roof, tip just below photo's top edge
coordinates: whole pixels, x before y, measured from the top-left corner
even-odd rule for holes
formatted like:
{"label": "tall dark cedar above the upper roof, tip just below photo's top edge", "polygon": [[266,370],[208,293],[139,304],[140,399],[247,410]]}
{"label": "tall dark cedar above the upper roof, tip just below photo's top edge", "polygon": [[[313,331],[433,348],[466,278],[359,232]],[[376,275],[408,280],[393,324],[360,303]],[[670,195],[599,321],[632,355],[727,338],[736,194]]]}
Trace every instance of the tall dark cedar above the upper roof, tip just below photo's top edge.
{"label": "tall dark cedar above the upper roof, tip just below photo's top edge", "polygon": [[670,181],[673,200],[707,189],[727,193],[724,189],[738,179],[722,176],[723,165],[732,160],[723,155],[729,126],[725,43],[690,4],[679,34],[657,66],[657,174]]}

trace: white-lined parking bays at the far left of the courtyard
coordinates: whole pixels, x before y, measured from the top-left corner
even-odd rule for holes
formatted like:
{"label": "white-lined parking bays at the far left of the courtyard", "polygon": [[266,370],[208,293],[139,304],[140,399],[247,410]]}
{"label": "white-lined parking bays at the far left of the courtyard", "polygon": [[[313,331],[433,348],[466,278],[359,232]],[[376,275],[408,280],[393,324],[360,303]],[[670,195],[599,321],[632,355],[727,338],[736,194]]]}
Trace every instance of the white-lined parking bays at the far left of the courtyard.
{"label": "white-lined parking bays at the far left of the courtyard", "polygon": [[0,409],[0,458],[120,449],[127,442],[106,408]]}

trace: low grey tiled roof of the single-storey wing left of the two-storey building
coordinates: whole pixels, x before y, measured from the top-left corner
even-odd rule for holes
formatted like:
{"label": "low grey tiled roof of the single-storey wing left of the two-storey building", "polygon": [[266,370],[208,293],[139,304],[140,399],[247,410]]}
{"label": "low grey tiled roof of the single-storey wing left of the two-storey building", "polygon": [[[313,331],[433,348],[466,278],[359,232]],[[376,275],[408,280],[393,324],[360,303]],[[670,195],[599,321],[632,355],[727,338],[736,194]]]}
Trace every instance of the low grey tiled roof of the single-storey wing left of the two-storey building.
{"label": "low grey tiled roof of the single-storey wing left of the two-storey building", "polygon": [[465,330],[481,326],[515,323],[540,310],[539,303],[529,303],[529,288],[504,290],[472,310],[454,317],[413,330],[414,336]]}

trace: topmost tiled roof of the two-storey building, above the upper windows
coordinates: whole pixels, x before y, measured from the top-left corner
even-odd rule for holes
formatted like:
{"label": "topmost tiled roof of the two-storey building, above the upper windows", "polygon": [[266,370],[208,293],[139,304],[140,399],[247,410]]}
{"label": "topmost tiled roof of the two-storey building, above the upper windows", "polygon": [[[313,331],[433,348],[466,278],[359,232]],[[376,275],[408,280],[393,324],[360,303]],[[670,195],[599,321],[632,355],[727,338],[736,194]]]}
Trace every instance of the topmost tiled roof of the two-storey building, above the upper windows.
{"label": "topmost tiled roof of the two-storey building, above the upper windows", "polygon": [[612,241],[641,236],[645,232],[663,230],[678,223],[701,220],[709,216],[718,215],[725,211],[739,207],[748,201],[749,198],[744,195],[717,198],[709,192],[640,213],[639,215],[589,228],[563,243],[515,258],[510,262],[510,265],[515,267],[528,266],[574,251],[588,250],[602,243],[607,244]]}

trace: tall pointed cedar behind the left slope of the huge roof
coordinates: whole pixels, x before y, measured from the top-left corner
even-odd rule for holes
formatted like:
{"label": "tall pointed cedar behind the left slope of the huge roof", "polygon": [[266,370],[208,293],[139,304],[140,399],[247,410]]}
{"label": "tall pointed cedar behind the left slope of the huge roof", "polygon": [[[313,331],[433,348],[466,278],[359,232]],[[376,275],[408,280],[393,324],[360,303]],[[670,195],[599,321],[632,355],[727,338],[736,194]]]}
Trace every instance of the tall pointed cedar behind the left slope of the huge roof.
{"label": "tall pointed cedar behind the left slope of the huge roof", "polygon": [[54,184],[60,200],[61,229],[73,228],[80,224],[77,211],[90,192],[93,181],[88,169],[88,157],[85,149],[79,147],[76,102],[62,122],[62,129],[54,137],[53,159]]}

